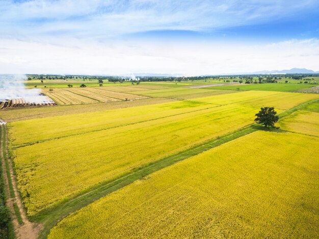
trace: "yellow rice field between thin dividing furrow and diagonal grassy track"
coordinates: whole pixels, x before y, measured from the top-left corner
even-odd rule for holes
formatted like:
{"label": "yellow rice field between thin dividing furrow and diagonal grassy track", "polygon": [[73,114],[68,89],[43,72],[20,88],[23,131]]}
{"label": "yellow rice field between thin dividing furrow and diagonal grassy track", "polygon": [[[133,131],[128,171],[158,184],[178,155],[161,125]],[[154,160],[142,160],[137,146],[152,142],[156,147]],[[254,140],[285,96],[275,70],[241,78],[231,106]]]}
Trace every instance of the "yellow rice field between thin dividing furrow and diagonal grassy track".
{"label": "yellow rice field between thin dividing furrow and diagonal grassy track", "polygon": [[257,110],[224,105],[17,148],[17,180],[28,214],[248,125]]}

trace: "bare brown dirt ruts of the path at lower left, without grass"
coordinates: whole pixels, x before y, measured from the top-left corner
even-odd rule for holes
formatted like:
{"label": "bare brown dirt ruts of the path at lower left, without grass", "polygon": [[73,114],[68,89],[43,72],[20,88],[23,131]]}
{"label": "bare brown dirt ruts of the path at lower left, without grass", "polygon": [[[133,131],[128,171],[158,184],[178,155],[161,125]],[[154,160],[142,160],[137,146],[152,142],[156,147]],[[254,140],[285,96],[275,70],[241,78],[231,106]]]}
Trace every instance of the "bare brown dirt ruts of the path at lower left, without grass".
{"label": "bare brown dirt ruts of the path at lower left, without grass", "polygon": [[[13,191],[15,194],[15,197],[10,196],[9,180],[7,177],[5,177],[5,184],[6,184],[6,190],[7,190],[7,195],[8,195],[7,205],[9,207],[11,215],[12,215],[12,222],[14,225],[15,233],[16,233],[17,238],[35,239],[38,237],[39,231],[42,229],[42,225],[30,222],[28,217],[26,217],[26,213],[25,213],[25,210],[24,210],[24,207],[22,204],[22,200],[21,200],[20,194],[17,190],[17,184],[16,184],[16,180],[15,180],[15,174],[14,174],[14,170],[13,170],[12,161],[9,158],[8,130],[6,130],[6,133],[4,132],[4,129],[7,129],[7,125],[2,120],[0,120],[0,121],[2,122],[0,125],[2,127],[2,135],[1,135],[2,158],[4,159],[4,156],[7,155],[8,165],[9,165],[9,169],[10,169],[10,177],[12,180]],[[3,146],[4,146],[3,141],[5,141],[5,148],[3,148]],[[5,162],[3,162],[2,167],[3,167],[3,172],[5,173],[6,172]],[[20,215],[21,215],[21,218],[23,221],[23,224],[21,224],[21,225],[18,223],[17,216],[16,216],[15,211],[14,211],[14,206],[13,206],[14,203],[17,204],[18,209],[20,211]]]}

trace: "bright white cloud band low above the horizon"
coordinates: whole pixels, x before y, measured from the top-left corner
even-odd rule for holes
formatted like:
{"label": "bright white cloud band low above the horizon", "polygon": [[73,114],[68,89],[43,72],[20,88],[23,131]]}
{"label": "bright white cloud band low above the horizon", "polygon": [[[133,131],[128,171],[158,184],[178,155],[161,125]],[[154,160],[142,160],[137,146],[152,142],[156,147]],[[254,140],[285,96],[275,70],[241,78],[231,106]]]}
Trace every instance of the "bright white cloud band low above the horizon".
{"label": "bright white cloud band low above the horizon", "polygon": [[0,45],[2,73],[198,75],[293,67],[319,70],[318,39],[268,45],[79,41],[76,47],[0,39]]}

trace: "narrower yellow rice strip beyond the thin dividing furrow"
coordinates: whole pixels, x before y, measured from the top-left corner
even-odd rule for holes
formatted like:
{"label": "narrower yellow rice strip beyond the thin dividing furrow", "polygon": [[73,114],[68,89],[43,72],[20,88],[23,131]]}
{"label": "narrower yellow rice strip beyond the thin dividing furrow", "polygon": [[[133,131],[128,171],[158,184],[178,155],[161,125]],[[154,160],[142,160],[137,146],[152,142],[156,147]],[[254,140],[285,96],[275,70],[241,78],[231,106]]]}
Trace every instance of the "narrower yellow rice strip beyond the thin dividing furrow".
{"label": "narrower yellow rice strip beyond the thin dividing furrow", "polygon": [[[69,135],[84,134],[119,126],[137,124],[174,115],[210,109],[218,106],[197,101],[177,101],[141,107],[97,111],[43,119],[23,120],[10,125],[12,145],[50,140]],[[59,127],[56,127],[59,125]]]}

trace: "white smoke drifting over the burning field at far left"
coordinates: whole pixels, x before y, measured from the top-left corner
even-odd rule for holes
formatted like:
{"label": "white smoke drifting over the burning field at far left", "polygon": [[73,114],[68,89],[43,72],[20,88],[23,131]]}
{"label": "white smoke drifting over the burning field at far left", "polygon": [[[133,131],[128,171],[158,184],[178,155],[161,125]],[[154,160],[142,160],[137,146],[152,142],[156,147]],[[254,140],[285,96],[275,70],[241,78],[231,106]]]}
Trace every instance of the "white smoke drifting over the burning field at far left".
{"label": "white smoke drifting over the burning field at far left", "polygon": [[26,103],[45,104],[52,101],[40,89],[26,89],[26,75],[0,74],[0,101],[23,98]]}

